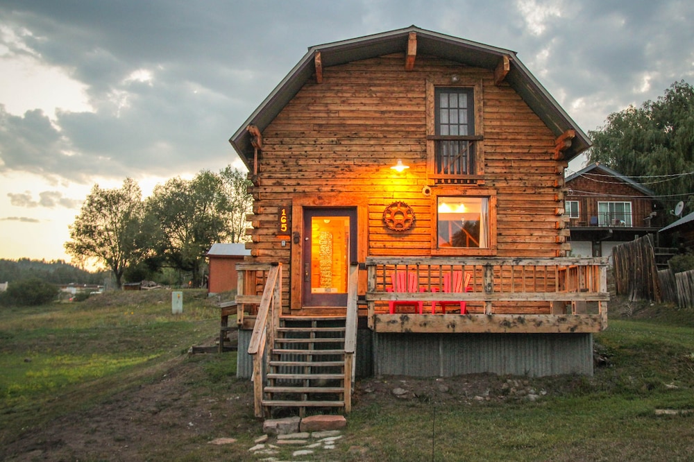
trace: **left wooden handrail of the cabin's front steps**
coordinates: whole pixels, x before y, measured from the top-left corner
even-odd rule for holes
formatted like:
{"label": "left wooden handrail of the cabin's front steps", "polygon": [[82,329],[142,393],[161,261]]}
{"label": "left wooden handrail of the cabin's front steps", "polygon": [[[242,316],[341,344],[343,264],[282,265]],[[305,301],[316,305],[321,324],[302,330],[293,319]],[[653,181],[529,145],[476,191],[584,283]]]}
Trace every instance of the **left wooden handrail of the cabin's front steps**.
{"label": "left wooden handrail of the cabin's front steps", "polygon": [[253,357],[253,397],[255,402],[255,416],[262,417],[262,393],[264,385],[263,359],[266,359],[265,350],[272,345],[275,332],[280,325],[280,311],[282,311],[282,264],[273,264],[267,275],[265,287],[260,298],[255,326],[248,344],[248,354]]}

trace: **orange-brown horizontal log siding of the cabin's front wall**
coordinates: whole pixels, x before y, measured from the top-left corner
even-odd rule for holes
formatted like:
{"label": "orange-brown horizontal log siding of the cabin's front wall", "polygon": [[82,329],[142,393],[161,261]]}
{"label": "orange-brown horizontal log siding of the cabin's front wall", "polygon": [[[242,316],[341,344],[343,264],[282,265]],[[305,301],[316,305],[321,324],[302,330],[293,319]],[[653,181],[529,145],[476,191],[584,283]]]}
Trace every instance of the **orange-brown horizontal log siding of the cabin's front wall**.
{"label": "orange-brown horizontal log siding of the cabin's front wall", "polygon": [[[430,255],[434,210],[421,192],[432,184],[426,179],[425,81],[455,73],[482,79],[483,187],[498,191],[497,255],[560,255],[568,232],[556,215],[565,162],[552,160],[555,136],[513,89],[494,85],[492,71],[420,55],[414,71],[405,71],[404,62],[398,54],[323,69],[323,83],[304,85],[264,130],[260,186],[251,189],[257,210],[251,254],[282,262],[289,275],[290,243],[280,246],[275,235],[278,207],[289,207],[295,195],[339,193],[367,198],[368,255]],[[390,166],[397,159],[410,168],[395,173]],[[393,200],[414,209],[411,230],[384,226],[383,210]],[[282,286],[286,291],[290,284]]]}

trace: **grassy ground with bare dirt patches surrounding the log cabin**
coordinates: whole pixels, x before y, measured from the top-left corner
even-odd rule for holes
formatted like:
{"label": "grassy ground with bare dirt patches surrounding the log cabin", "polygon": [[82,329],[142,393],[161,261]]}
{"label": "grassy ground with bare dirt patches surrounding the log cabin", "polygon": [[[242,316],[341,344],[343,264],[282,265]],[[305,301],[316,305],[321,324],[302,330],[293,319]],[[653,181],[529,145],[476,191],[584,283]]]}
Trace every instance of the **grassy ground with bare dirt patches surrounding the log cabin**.
{"label": "grassy ground with bare dirt patches surrounding the log cabin", "polygon": [[[594,377],[362,379],[343,438],[310,460],[692,460],[694,413],[657,410],[694,411],[694,311],[613,311]],[[262,425],[236,353],[187,355],[218,330],[203,291],[184,291],[180,315],[167,291],[0,308],[0,459],[262,459],[248,452]],[[513,395],[513,380],[541,398]],[[237,443],[208,444],[220,437]]]}

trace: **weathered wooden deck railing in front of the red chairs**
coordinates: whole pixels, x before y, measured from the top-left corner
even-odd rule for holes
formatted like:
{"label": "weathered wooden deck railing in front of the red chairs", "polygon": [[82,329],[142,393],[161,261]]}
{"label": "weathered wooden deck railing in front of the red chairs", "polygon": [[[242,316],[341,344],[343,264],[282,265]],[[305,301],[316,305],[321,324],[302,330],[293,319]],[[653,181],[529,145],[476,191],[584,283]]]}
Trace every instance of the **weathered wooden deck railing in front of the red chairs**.
{"label": "weathered wooden deck railing in front of the red chairs", "polygon": [[[369,257],[366,271],[370,321],[387,313],[387,302],[411,300],[423,302],[425,314],[434,302],[464,301],[472,316],[593,315],[591,330],[607,325],[606,258]],[[444,292],[444,275],[456,271],[470,275],[469,291]],[[394,291],[398,272],[416,275],[420,291]]]}

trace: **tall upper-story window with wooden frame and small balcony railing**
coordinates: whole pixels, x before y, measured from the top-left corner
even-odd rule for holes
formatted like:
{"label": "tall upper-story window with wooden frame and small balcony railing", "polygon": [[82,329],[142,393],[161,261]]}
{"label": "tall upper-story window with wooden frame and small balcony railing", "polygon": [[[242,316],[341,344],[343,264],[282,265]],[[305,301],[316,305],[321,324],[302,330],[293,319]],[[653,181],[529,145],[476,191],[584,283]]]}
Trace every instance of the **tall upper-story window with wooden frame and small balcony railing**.
{"label": "tall upper-story window with wooden frame and small balcony railing", "polygon": [[482,83],[428,81],[429,178],[434,185],[482,184]]}

